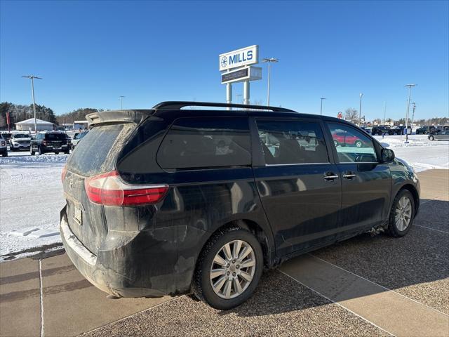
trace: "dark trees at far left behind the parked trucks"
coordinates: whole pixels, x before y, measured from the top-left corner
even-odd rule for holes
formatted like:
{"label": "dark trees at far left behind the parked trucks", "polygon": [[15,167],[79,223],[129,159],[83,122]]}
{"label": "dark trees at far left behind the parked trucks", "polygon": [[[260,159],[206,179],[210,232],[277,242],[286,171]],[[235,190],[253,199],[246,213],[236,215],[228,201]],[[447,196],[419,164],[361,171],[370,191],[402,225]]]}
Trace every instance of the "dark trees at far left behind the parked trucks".
{"label": "dark trees at far left behind the parked trucks", "polygon": [[[9,112],[9,121],[11,127],[18,121],[23,121],[33,117],[33,105],[20,105],[8,102],[0,103],[0,128],[6,128],[6,113]],[[36,104],[36,118],[57,123],[55,113],[45,105]]]}

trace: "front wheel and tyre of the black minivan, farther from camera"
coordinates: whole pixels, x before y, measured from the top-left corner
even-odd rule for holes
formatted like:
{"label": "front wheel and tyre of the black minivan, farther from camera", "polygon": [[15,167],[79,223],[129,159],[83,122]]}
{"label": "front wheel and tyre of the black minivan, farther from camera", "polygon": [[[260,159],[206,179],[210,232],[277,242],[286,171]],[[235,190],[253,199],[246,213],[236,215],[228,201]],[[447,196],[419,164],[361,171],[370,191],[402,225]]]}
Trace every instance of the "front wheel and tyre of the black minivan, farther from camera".
{"label": "front wheel and tyre of the black minivan, farther from camera", "polygon": [[387,234],[391,237],[403,237],[413,225],[415,218],[415,199],[409,190],[396,194],[391,206]]}

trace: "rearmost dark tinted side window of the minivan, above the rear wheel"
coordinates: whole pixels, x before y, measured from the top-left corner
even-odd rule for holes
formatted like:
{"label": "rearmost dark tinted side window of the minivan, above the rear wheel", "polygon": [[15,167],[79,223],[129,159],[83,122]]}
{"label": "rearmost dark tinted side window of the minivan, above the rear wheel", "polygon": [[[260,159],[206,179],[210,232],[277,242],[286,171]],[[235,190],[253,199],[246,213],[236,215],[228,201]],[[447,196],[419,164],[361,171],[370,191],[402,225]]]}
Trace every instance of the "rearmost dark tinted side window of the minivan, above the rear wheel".
{"label": "rearmost dark tinted side window of the minivan, above the rear wheel", "polygon": [[156,160],[163,169],[250,165],[248,119],[177,119],[163,139]]}

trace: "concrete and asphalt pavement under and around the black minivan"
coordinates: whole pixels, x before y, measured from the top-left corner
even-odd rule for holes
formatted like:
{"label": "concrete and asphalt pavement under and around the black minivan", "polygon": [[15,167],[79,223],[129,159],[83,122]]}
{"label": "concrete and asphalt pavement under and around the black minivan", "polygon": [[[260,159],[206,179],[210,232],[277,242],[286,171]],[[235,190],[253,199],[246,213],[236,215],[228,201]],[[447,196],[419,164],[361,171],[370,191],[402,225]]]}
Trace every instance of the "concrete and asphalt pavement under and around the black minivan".
{"label": "concrete and asphalt pavement under and around the black minivan", "polygon": [[418,173],[415,226],[363,234],[265,272],[222,312],[192,299],[107,299],[63,253],[0,264],[1,336],[449,336],[449,170]]}

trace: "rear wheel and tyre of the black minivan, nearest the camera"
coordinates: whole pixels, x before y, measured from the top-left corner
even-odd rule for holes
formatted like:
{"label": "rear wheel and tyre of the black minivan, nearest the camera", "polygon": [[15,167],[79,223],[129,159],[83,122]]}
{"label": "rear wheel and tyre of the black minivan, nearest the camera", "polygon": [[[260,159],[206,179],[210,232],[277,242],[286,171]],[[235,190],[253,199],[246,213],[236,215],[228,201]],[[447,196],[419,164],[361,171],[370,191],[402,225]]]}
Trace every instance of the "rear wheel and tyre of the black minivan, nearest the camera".
{"label": "rear wheel and tyre of the black minivan, nearest the camera", "polygon": [[228,310],[253,295],[263,270],[257,239],[240,227],[215,234],[201,251],[192,290],[211,307]]}

